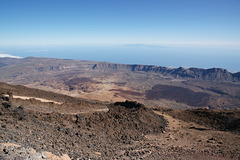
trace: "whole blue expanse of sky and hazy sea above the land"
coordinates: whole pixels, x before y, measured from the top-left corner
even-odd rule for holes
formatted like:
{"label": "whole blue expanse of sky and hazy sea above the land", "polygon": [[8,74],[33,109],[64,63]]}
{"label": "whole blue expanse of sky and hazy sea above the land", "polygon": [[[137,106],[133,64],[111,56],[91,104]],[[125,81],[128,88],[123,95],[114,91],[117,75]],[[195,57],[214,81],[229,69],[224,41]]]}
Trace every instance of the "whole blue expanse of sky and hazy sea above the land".
{"label": "whole blue expanse of sky and hazy sea above the land", "polygon": [[0,54],[240,71],[240,0],[0,0]]}

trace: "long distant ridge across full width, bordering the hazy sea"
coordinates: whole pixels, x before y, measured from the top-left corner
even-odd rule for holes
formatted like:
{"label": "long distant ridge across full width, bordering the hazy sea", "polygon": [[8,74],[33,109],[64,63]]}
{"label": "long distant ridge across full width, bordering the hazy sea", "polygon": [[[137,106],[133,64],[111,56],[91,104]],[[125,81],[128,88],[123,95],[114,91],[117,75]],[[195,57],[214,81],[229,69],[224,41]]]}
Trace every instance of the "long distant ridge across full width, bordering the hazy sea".
{"label": "long distant ridge across full width, bordering the hazy sea", "polygon": [[[49,63],[48,66],[41,66],[41,61]],[[58,61],[58,64],[52,64],[53,61]],[[54,70],[68,70],[68,69],[84,69],[84,70],[125,70],[131,72],[153,72],[159,73],[163,76],[171,76],[176,79],[199,79],[207,81],[220,81],[220,82],[240,82],[240,72],[231,73],[222,68],[168,68],[155,65],[142,65],[142,64],[118,64],[109,62],[97,62],[86,60],[69,60],[69,59],[56,59],[56,58],[42,58],[42,57],[26,57],[22,59],[14,58],[0,58],[0,67],[8,67],[9,65],[19,65],[21,63],[34,62],[37,72],[54,71]]]}

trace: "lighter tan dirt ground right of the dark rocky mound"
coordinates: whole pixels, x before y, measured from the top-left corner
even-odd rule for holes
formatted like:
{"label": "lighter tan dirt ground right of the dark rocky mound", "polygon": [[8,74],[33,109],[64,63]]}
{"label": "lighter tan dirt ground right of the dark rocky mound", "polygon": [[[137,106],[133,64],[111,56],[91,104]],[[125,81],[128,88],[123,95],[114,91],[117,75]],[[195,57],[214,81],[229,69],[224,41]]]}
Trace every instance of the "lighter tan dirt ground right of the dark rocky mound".
{"label": "lighter tan dirt ground right of the dark rocky mound", "polygon": [[184,122],[163,112],[155,111],[155,113],[164,116],[168,121],[168,126],[164,134],[146,137],[149,140],[158,140],[163,148],[175,147],[210,154],[240,155],[240,135],[238,134],[216,131],[195,123]]}

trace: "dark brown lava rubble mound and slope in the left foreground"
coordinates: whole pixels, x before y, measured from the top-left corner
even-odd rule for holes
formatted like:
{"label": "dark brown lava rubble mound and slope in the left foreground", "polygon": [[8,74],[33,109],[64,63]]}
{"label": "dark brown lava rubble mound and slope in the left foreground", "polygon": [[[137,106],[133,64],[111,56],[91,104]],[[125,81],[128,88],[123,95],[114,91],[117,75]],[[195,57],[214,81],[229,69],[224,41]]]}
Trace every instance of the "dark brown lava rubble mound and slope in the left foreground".
{"label": "dark brown lava rubble mound and slope in the left foreground", "polygon": [[56,155],[67,153],[72,159],[138,157],[134,150],[147,145],[142,142],[144,135],[162,133],[166,122],[143,106],[131,106],[109,106],[107,113],[45,113],[1,97],[0,141]]}

